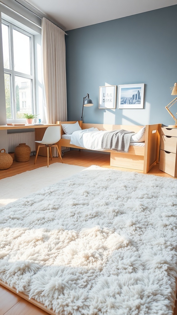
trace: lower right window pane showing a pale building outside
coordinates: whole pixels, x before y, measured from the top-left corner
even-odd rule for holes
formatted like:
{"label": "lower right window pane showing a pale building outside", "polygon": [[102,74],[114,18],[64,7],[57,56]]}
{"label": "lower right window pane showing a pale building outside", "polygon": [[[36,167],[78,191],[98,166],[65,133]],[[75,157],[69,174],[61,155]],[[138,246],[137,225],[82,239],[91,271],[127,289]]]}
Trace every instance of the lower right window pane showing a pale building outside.
{"label": "lower right window pane showing a pale building outside", "polygon": [[23,118],[23,113],[33,113],[31,81],[31,79],[15,76],[17,118]]}

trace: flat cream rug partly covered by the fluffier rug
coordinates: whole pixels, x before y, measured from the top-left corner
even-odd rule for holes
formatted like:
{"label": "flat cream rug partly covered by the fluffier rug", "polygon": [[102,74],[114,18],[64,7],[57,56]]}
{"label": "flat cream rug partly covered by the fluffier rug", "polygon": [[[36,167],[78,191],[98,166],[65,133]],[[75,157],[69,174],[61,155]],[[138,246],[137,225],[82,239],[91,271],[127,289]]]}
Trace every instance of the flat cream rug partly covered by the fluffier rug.
{"label": "flat cream rug partly covered by the fluffier rug", "polygon": [[53,163],[0,180],[0,207],[81,172],[85,167]]}

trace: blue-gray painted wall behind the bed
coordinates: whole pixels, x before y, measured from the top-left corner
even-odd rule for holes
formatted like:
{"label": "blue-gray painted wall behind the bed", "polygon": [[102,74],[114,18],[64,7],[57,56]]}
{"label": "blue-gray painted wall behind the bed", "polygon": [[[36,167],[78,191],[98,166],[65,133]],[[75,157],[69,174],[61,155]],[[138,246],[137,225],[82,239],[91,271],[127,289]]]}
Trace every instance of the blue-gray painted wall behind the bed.
{"label": "blue-gray painted wall behind the bed", "polygon": [[[165,106],[177,82],[177,5],[67,31],[68,121],[85,123],[174,124]],[[143,109],[99,109],[99,87],[145,83]],[[118,100],[118,97],[117,97]],[[177,111],[177,103],[172,107]]]}

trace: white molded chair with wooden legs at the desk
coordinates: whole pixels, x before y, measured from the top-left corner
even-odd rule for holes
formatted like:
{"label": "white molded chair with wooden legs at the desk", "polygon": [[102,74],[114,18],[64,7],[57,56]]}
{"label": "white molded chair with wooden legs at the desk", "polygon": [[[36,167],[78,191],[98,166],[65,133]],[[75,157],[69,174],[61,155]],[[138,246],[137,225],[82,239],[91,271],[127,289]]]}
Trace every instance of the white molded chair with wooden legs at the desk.
{"label": "white molded chair with wooden legs at the desk", "polygon": [[[39,145],[37,148],[37,153],[36,153],[36,158],[34,161],[34,164],[36,163],[37,160],[37,155],[39,152],[39,148],[41,148],[42,146],[47,146],[47,167],[49,167],[49,150],[50,150],[50,158],[52,160],[52,150],[51,150],[51,146],[56,147],[58,154],[60,155],[61,161],[62,161],[62,157],[59,151],[59,148],[56,144],[56,142],[58,142],[61,139],[61,130],[60,130],[60,126],[50,126],[46,129],[44,135],[43,135],[43,139],[41,141],[35,141],[38,142],[42,145]],[[62,161],[63,163],[63,161]]]}

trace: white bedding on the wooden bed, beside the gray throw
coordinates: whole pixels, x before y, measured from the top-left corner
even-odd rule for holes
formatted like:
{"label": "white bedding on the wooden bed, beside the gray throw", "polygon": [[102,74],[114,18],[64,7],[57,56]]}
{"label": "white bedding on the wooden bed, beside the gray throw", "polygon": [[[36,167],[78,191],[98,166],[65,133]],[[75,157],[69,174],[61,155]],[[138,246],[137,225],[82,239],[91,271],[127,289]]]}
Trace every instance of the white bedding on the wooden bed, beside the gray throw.
{"label": "white bedding on the wooden bed, beside the gray throw", "polygon": [[[101,140],[107,130],[89,128],[77,130],[72,135],[62,135],[62,139],[71,140],[70,144],[80,146],[89,150],[101,150]],[[144,142],[130,142],[130,146],[145,146]]]}

